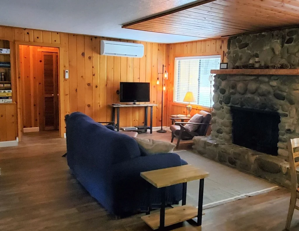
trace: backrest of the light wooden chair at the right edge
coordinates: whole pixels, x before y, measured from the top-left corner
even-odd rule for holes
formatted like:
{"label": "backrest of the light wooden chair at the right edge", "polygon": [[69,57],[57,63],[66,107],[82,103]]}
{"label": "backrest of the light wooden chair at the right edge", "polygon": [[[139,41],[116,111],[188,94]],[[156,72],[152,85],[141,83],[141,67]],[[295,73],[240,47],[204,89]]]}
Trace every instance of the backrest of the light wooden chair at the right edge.
{"label": "backrest of the light wooden chair at the right edge", "polygon": [[[295,192],[298,189],[296,167],[299,166],[299,162],[295,162],[295,158],[299,157],[299,151],[296,150],[299,147],[299,138],[290,139],[288,143],[289,149],[289,162],[290,162],[290,173],[291,173],[291,191]],[[295,152],[294,152],[295,148]]]}

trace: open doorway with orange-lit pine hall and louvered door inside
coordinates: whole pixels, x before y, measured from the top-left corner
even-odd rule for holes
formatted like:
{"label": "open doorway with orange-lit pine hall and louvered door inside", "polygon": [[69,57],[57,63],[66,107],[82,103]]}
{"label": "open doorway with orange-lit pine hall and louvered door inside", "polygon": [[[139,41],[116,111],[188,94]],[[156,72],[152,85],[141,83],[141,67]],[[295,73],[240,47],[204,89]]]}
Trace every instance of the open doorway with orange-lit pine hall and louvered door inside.
{"label": "open doorway with orange-lit pine hall and louvered door inside", "polygon": [[19,45],[23,132],[59,129],[59,49]]}

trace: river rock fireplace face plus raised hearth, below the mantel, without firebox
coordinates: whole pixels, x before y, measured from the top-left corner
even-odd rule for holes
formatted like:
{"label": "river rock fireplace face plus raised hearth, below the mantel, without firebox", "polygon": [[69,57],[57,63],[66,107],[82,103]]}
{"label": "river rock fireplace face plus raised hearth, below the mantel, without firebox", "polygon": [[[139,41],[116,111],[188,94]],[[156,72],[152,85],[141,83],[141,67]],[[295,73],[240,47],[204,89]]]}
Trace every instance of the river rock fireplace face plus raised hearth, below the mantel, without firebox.
{"label": "river rock fireplace face plus raised hearth, below the mantel, without firebox", "polygon": [[[195,137],[194,150],[210,159],[288,186],[287,141],[299,137],[299,76],[215,75],[213,87],[211,136]],[[276,135],[269,133],[270,138],[276,136],[277,153],[269,155],[233,144],[231,106],[278,116],[280,121],[274,125],[278,127]],[[247,120],[243,122],[248,123]],[[250,123],[256,126],[252,121]],[[263,128],[269,129],[269,126]],[[250,139],[251,134],[247,135]]]}

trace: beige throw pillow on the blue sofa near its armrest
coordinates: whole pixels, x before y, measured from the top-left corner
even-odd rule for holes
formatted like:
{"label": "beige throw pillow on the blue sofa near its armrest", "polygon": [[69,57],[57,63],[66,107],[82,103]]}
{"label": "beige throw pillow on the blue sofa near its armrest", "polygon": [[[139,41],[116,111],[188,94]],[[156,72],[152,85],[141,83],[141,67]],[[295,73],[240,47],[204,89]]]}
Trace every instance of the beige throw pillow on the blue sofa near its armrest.
{"label": "beige throw pillow on the blue sofa near its armrest", "polygon": [[134,137],[134,139],[147,151],[148,154],[170,153],[173,152],[173,149],[176,147],[175,144],[167,141],[144,139],[139,137]]}

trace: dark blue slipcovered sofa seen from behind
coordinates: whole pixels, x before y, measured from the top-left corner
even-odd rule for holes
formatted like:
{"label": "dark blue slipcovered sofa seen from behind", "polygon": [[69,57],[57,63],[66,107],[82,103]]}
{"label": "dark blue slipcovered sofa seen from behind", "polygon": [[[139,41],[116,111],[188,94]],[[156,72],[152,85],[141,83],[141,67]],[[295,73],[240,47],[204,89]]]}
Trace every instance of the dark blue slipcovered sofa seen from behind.
{"label": "dark blue slipcovered sofa seen from behind", "polygon": [[[147,155],[130,136],[95,122],[83,113],[65,117],[67,162],[83,187],[110,214],[131,215],[147,208],[147,183],[140,172],[187,164],[178,154]],[[151,202],[160,203],[152,186]],[[182,199],[182,184],[167,187],[166,203]]]}

